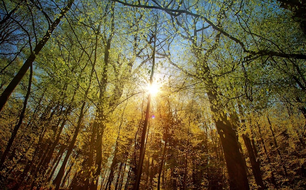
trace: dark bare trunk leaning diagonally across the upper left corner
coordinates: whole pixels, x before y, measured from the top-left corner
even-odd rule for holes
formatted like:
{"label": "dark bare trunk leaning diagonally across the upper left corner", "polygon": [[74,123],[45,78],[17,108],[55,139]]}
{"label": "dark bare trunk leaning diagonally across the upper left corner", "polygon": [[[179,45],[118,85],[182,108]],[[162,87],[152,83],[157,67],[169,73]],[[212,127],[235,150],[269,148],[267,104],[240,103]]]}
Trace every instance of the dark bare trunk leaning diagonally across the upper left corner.
{"label": "dark bare trunk leaning diagonally across the upper left corner", "polygon": [[29,69],[29,67],[34,62],[36,56],[39,54],[39,52],[43,49],[46,42],[49,40],[52,32],[55,30],[57,25],[60,23],[62,18],[65,16],[66,12],[71,8],[74,0],[69,0],[66,7],[61,11],[59,14],[59,17],[52,22],[51,26],[48,28],[46,33],[44,34],[43,39],[38,42],[38,44],[35,46],[34,51],[31,49],[31,54],[27,58],[27,60],[23,63],[22,67],[20,68],[19,72],[16,74],[16,76],[13,78],[13,80],[10,82],[10,84],[7,85],[5,90],[2,92],[0,96],[0,111],[2,110],[3,106],[6,104],[8,98],[12,94],[15,87],[19,84],[19,82],[22,80],[23,76],[25,75],[26,71]]}

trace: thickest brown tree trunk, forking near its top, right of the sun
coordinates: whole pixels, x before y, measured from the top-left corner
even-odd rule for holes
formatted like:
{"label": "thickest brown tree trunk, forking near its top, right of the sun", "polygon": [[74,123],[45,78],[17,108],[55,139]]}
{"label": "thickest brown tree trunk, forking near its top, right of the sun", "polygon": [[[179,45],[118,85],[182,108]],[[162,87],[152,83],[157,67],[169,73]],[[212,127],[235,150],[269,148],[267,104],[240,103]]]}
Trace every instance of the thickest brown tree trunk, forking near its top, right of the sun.
{"label": "thickest brown tree trunk, forking near its top, right of the sun", "polygon": [[226,161],[230,189],[249,190],[245,160],[242,158],[239,150],[235,126],[231,124],[227,119],[227,115],[223,113],[225,108],[222,105],[222,100],[219,98],[219,86],[214,80],[214,76],[207,63],[210,53],[218,47],[220,35],[220,33],[217,33],[215,43],[210,49],[205,51],[204,55],[202,54],[203,49],[201,47],[193,46],[193,52],[197,57],[200,68],[203,70],[201,80],[207,85],[207,96]]}

